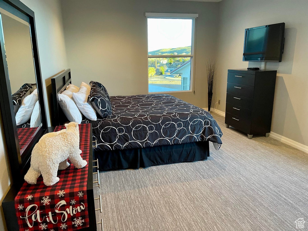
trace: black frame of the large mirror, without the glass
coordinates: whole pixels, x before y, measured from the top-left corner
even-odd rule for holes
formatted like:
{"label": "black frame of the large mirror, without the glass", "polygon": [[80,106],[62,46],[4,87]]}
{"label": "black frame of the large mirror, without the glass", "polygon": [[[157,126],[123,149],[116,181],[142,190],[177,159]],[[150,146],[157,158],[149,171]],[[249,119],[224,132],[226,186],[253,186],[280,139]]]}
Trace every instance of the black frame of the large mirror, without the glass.
{"label": "black frame of the large mirror, without the glass", "polygon": [[[4,6],[4,7],[3,7]],[[6,54],[4,50],[4,38],[2,33],[2,24],[0,23],[0,106],[3,121],[3,129],[5,133],[6,147],[10,160],[11,173],[13,183],[21,185],[24,180],[23,176],[30,167],[31,151],[38,140],[47,130],[47,117],[44,103],[43,79],[39,61],[39,48],[37,43],[34,12],[19,0],[0,0],[1,8],[9,8],[16,16],[24,14],[30,20],[31,41],[33,47],[33,58],[36,74],[36,83],[39,93],[39,105],[41,112],[42,124],[35,132],[30,144],[26,147],[22,155],[20,154],[19,141],[17,134],[17,126],[15,121],[14,108],[12,103],[12,92],[8,75],[8,67],[6,62]]]}

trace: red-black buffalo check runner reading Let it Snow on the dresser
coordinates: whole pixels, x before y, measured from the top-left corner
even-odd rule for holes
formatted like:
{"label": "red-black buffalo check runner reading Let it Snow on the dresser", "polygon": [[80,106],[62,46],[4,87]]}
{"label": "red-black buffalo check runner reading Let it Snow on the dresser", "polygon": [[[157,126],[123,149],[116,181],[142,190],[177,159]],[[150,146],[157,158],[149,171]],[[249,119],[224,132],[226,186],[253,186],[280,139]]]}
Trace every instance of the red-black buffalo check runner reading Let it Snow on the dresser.
{"label": "red-black buffalo check runner reading Let it Snow on the dresser", "polygon": [[[64,129],[57,126],[55,132]],[[80,154],[89,162],[90,124],[79,124]],[[81,169],[72,164],[58,171],[60,181],[52,186],[24,183],[15,197],[20,231],[68,231],[89,227],[87,208],[88,164]]]}

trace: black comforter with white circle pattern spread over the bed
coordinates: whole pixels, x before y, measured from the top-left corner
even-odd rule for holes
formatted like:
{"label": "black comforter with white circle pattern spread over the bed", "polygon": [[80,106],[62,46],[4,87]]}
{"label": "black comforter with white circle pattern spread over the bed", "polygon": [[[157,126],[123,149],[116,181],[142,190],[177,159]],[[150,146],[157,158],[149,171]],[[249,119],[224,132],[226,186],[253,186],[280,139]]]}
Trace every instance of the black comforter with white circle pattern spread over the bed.
{"label": "black comforter with white circle pattern spread over the bed", "polygon": [[98,150],[145,148],[211,141],[218,150],[222,132],[213,116],[166,94],[111,96],[112,115],[92,124]]}

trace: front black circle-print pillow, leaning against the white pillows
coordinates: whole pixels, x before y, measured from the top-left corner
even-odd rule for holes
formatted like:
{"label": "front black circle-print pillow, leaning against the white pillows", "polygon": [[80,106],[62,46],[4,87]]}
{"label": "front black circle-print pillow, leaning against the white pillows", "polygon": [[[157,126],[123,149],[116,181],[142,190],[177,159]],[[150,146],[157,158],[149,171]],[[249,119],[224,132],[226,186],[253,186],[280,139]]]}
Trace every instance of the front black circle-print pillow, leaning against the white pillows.
{"label": "front black circle-print pillow, leaning against the white pillows", "polygon": [[112,110],[110,98],[105,91],[103,91],[103,89],[95,83],[91,84],[88,102],[91,102],[92,107],[102,118],[106,118],[108,115],[111,115]]}

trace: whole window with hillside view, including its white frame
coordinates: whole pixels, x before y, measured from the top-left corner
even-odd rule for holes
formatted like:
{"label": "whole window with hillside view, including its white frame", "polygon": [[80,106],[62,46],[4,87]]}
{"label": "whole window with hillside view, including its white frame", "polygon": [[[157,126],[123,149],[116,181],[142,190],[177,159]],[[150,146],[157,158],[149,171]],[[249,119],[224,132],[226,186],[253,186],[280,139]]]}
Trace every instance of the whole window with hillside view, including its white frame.
{"label": "whole window with hillside view, including its white frame", "polygon": [[192,91],[197,14],[146,13],[148,92]]}

